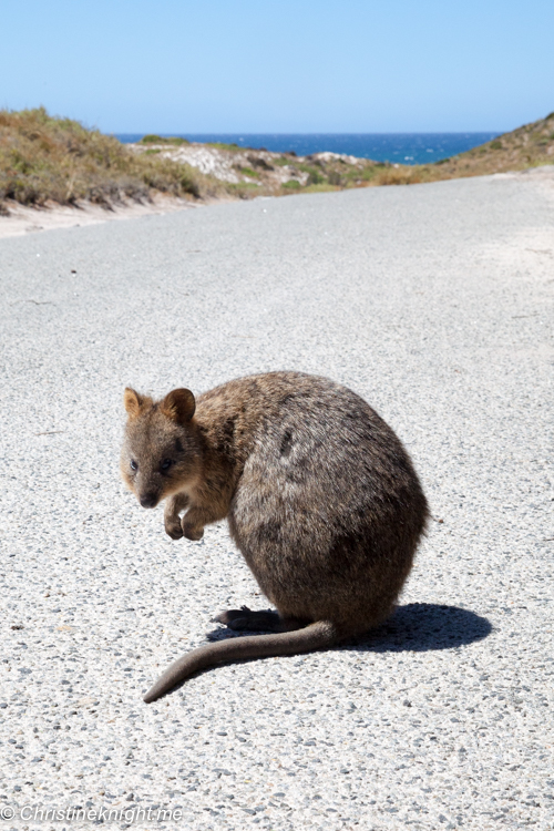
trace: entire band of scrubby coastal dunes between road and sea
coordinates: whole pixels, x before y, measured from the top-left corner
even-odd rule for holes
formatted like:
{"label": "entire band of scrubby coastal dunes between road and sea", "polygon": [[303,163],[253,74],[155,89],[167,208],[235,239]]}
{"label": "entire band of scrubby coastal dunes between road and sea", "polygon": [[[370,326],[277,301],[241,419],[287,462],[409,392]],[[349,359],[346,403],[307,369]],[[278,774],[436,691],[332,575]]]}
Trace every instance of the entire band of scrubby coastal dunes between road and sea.
{"label": "entire band of scrubby coastal dunes between road and sea", "polygon": [[[201,161],[198,161],[199,156]],[[155,193],[185,199],[252,198],[409,185],[554,164],[554,113],[452,158],[398,165],[334,153],[299,157],[236,144],[145,135],[125,145],[44,107],[0,110],[0,213],[10,204],[96,203],[111,208]]]}

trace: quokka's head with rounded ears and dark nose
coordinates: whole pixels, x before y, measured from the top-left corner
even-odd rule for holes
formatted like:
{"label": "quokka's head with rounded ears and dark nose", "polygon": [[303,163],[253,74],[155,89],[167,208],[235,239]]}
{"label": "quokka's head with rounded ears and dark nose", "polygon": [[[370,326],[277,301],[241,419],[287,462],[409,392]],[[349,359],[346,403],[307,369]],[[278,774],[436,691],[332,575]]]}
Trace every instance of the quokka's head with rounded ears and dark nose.
{"label": "quokka's head with rounded ears and dark nose", "polygon": [[155,507],[198,475],[202,449],[193,421],[194,396],[178,389],[155,402],[127,387],[123,402],[129,414],[121,453],[123,481],[143,507]]}

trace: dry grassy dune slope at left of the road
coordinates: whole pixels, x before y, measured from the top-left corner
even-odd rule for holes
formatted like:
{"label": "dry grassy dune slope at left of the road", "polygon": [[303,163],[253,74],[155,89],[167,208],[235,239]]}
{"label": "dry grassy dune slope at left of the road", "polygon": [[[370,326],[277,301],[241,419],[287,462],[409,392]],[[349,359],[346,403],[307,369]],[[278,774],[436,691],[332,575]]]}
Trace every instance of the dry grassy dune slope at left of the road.
{"label": "dry grassy dune slope at left of the road", "polygon": [[76,121],[51,117],[43,107],[0,110],[0,205],[61,205],[81,199],[110,207],[151,191],[188,198],[216,196],[217,183],[188,165],[137,155],[112,136]]}

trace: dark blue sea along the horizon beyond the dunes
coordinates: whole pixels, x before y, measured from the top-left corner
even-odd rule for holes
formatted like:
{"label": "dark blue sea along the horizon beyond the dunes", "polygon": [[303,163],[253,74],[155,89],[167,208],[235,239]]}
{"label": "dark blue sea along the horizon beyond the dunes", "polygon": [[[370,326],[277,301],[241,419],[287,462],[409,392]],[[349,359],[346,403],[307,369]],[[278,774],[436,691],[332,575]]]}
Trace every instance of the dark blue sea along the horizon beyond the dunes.
{"label": "dark blue sea along the horizon beyond the dunes", "polygon": [[[143,133],[121,133],[115,137],[129,144]],[[170,134],[162,134],[167,137]],[[175,135],[175,134],[173,134]],[[224,142],[240,147],[294,151],[298,156],[332,151],[359,158],[399,164],[425,164],[455,156],[490,142],[500,133],[179,133],[191,142]]]}

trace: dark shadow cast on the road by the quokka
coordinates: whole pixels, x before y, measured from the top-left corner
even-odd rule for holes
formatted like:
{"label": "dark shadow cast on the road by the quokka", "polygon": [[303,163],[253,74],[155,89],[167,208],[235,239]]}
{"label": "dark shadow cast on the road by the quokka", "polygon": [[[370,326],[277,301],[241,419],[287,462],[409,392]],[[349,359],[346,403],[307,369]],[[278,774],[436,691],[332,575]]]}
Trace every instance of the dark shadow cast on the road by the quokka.
{"label": "dark shadow cast on the road by the quokka", "polygon": [[[435,603],[408,603],[399,606],[378,628],[349,638],[338,648],[377,653],[452,649],[482,640],[491,632],[491,623],[474,612]],[[225,640],[243,634],[253,633],[217,628],[207,633],[207,637],[209,640]]]}

